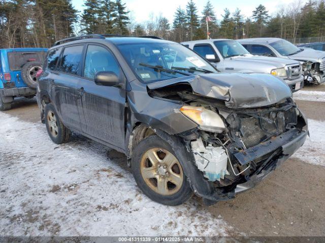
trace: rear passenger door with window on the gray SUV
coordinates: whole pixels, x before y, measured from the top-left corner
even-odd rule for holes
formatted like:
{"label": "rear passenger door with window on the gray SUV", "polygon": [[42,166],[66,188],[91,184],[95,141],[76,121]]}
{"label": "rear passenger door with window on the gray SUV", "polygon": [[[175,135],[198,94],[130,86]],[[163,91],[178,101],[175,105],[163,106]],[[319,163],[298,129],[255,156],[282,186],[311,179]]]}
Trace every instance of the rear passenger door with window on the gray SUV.
{"label": "rear passenger door with window on the gray SUV", "polygon": [[[78,111],[78,82],[81,72],[84,45],[64,47],[56,71],[49,82],[52,87],[51,97],[64,125],[68,128],[81,129]],[[55,61],[55,60],[53,60]]]}

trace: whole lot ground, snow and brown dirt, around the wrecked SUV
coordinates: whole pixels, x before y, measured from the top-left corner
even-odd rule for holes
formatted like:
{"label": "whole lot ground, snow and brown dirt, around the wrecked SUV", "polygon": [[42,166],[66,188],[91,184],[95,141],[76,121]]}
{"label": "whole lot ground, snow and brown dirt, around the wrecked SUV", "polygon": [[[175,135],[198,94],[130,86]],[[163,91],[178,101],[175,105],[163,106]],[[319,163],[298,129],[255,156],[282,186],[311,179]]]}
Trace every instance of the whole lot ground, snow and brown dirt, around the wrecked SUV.
{"label": "whole lot ground, snow and brown dirt, around the wrecked SUV", "polygon": [[310,118],[305,145],[254,189],[211,207],[198,197],[178,207],[153,203],[123,154],[78,135],[53,144],[35,99],[17,99],[0,112],[0,235],[325,236],[325,89],[318,88],[295,95]]}

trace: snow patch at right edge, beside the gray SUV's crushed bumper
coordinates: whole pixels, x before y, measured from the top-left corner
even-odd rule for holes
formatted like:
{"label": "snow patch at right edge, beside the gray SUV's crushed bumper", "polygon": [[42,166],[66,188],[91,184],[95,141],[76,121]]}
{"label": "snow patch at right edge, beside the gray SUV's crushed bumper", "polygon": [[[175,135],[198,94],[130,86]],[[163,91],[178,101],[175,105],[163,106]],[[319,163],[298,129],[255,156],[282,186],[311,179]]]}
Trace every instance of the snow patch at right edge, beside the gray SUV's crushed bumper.
{"label": "snow patch at right edge, beside the gray SUV's crushed bumper", "polygon": [[308,119],[308,130],[310,137],[293,157],[309,164],[325,166],[325,121]]}

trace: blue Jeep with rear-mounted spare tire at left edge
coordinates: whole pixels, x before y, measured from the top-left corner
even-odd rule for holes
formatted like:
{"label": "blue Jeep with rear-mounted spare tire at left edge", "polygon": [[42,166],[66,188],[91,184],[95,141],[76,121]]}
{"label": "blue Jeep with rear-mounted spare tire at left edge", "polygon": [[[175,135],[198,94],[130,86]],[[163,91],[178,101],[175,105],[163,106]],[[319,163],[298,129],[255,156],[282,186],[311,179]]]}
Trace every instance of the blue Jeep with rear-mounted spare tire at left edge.
{"label": "blue Jeep with rear-mounted spare tire at left edge", "polygon": [[42,68],[47,49],[0,49],[0,110],[11,109],[15,97],[36,94],[37,72]]}

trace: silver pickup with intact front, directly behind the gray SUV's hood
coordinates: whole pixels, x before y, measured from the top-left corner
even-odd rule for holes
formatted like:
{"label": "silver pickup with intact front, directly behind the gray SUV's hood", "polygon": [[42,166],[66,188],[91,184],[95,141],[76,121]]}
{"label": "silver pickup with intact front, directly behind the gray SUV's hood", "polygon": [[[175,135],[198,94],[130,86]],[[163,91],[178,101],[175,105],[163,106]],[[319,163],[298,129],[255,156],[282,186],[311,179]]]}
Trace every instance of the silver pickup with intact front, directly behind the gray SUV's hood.
{"label": "silver pickup with intact front, directly behind the gray SUV's hood", "polygon": [[182,45],[206,58],[221,72],[264,72],[280,77],[292,92],[304,85],[302,66],[295,60],[251,55],[232,39],[203,39]]}

